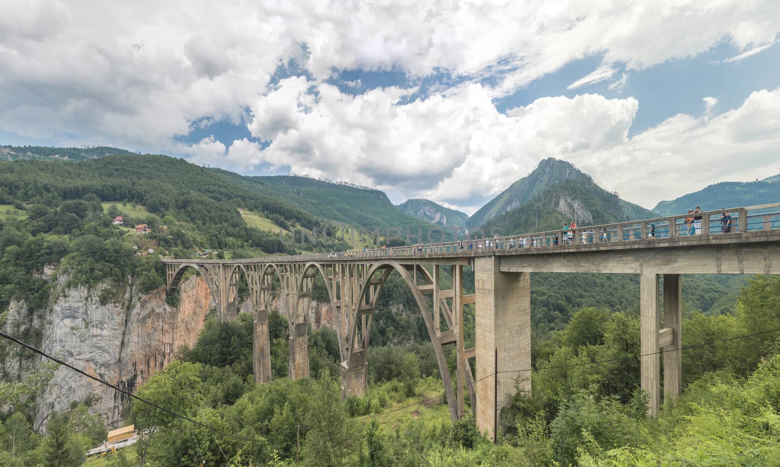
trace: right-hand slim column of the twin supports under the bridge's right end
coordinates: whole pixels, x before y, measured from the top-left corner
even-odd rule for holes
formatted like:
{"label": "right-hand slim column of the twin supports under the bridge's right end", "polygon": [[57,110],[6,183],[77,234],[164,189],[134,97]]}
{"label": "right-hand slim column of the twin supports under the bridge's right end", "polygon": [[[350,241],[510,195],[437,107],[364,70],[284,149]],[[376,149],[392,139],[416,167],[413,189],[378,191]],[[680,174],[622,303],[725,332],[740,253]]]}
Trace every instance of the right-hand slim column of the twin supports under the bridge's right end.
{"label": "right-hand slim column of the twin supports under the bridge's right end", "polygon": [[[672,328],[672,343],[683,345],[683,280],[680,274],[664,274],[664,327]],[[683,391],[683,351],[664,352],[664,400],[673,400]]]}

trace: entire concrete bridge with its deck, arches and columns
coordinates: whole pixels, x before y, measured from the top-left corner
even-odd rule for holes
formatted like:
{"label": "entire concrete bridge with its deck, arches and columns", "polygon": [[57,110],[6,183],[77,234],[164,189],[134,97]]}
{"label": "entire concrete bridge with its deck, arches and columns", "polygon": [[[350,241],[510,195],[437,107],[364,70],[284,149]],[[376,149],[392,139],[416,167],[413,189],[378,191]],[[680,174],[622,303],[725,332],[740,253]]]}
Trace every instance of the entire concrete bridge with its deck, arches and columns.
{"label": "entire concrete bridge with its deck, arches and columns", "polygon": [[[721,215],[730,213],[728,228]],[[463,417],[465,392],[480,431],[493,436],[497,409],[518,389],[530,394],[530,274],[640,274],[641,387],[654,415],[661,400],[663,352],[665,398],[682,390],[681,274],[780,274],[780,203],[701,214],[700,230],[688,214],[571,230],[368,249],[339,253],[268,256],[241,260],[164,260],[167,292],[185,271],[206,280],[223,320],[236,316],[239,281],[246,281],[254,311],[254,375],[271,380],[268,309],[273,278],[284,298],[289,325],[289,377],[309,373],[307,324],[317,275],[324,279],[339,336],[342,397],[367,387],[367,348],[382,285],[397,271],[410,287],[436,355],[453,420]],[[463,266],[474,270],[475,292],[463,290]],[[452,284],[441,283],[449,268]],[[660,278],[663,278],[663,290]],[[426,295],[432,295],[428,305]],[[463,306],[475,304],[476,345],[464,348]],[[660,307],[660,316],[659,316]],[[661,323],[659,325],[659,323]],[[456,391],[445,345],[456,348]],[[476,359],[476,375],[468,360]],[[517,372],[516,370],[526,370]],[[491,377],[495,371],[498,378]],[[465,391],[464,391],[465,388]]]}

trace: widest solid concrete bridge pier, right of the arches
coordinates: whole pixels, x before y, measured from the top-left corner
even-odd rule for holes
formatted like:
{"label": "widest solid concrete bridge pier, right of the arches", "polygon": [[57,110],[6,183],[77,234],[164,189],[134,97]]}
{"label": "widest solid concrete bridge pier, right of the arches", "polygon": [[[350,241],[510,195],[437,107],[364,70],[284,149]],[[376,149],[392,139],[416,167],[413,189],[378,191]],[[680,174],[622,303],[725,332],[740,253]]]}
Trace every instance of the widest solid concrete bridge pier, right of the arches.
{"label": "widest solid concrete bridge pier, right of the arches", "polygon": [[[521,391],[530,394],[531,390],[530,273],[500,272],[498,257],[480,256],[474,258],[474,281],[477,429],[495,438],[495,426],[503,430],[500,419],[496,419],[497,410],[509,405],[516,377],[522,380]],[[496,370],[509,373],[498,373],[496,381]]]}

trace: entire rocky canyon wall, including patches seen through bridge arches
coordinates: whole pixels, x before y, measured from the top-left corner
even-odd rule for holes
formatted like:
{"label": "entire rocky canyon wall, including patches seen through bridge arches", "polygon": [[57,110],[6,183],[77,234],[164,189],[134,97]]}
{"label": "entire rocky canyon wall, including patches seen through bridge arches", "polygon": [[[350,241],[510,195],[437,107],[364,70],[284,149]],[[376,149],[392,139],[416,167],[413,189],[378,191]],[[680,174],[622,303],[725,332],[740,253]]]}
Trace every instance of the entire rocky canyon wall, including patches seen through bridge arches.
{"label": "entire rocky canyon wall, including patches seen through bridge arches", "polygon": [[[130,285],[123,295],[101,304],[109,285],[67,287],[67,278],[55,281],[47,310],[27,310],[25,302],[12,302],[5,313],[4,331],[40,341],[40,348],[76,368],[100,377],[126,391],[136,391],[156,371],[175,359],[183,347],[192,347],[211,306],[209,288],[194,275],[179,288],[179,306],[168,306],[165,289],[148,295]],[[271,308],[285,310],[283,297]],[[251,313],[249,302],[241,310]],[[314,329],[335,327],[328,303],[312,301],[309,322]],[[37,338],[31,337],[37,334]],[[37,370],[41,359],[6,347],[2,362],[4,380],[23,380]],[[90,410],[102,416],[109,429],[120,426],[129,397],[66,367],[58,367],[36,400],[35,427],[40,430],[51,412],[63,412],[73,402],[91,401]]]}

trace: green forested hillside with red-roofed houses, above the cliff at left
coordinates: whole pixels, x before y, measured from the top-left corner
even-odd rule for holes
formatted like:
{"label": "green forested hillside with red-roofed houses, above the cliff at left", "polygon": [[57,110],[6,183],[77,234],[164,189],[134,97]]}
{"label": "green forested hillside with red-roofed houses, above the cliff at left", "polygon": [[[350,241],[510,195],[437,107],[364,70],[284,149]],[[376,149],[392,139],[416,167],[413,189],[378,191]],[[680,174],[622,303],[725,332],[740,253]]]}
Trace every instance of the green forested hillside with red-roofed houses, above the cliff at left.
{"label": "green forested hillside with red-roofed houses, above the cliff at left", "polygon": [[[136,276],[151,291],[163,285],[158,254],[183,257],[212,249],[219,257],[241,257],[325,248],[321,237],[314,244],[293,243],[250,227],[237,207],[303,228],[323,228],[324,221],[165,156],[2,162],[0,203],[15,207],[0,217],[0,310],[12,299],[25,300],[30,309],[45,306],[49,286],[41,273],[51,265],[74,285],[115,281],[119,287]],[[118,215],[131,228],[112,225]],[[136,224],[149,225],[151,232],[135,234]],[[328,241],[328,249],[347,247]],[[150,247],[160,251],[136,254]]]}

